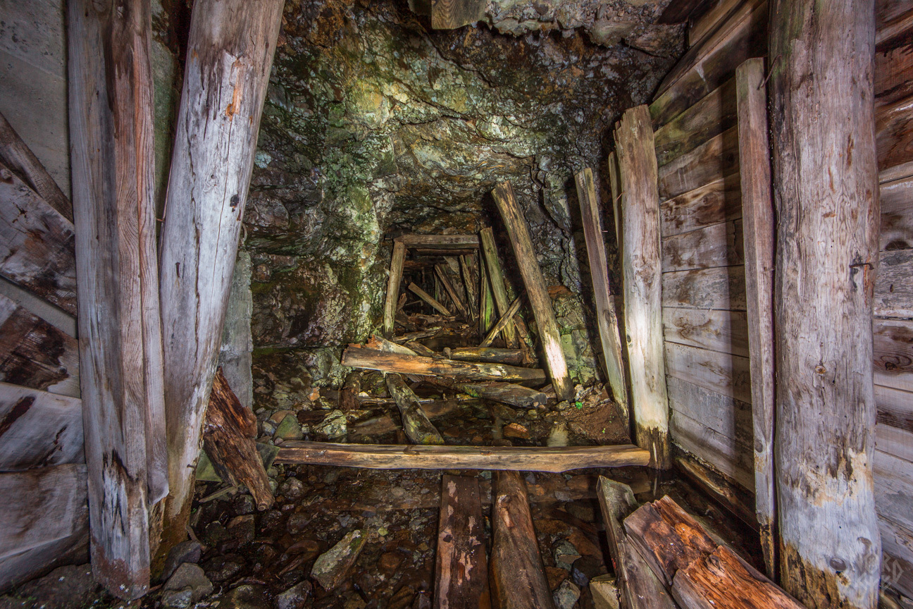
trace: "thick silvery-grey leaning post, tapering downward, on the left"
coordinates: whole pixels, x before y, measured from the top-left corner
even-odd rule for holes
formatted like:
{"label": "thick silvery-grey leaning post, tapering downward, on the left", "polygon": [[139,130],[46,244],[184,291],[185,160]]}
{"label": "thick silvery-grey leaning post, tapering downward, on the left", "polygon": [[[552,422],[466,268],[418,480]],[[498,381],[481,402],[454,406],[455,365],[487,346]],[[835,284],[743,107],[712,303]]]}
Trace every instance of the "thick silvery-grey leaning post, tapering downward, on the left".
{"label": "thick silvery-grey leaning post, tapering downward, on the left", "polygon": [[282,0],[197,0],[162,231],[170,493],[162,551],[186,535],[206,404]]}

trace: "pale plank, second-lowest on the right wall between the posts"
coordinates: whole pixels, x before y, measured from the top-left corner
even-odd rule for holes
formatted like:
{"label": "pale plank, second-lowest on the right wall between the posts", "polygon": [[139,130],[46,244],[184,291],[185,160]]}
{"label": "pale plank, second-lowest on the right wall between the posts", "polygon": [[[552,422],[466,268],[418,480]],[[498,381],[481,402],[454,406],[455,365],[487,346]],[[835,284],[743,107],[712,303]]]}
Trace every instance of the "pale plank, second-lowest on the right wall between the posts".
{"label": "pale plank, second-lowest on the right wall between the posts", "polygon": [[[743,446],[753,445],[751,404],[719,394],[674,376],[666,377],[669,403],[673,409],[699,421],[722,436]],[[752,466],[752,471],[753,471]]]}

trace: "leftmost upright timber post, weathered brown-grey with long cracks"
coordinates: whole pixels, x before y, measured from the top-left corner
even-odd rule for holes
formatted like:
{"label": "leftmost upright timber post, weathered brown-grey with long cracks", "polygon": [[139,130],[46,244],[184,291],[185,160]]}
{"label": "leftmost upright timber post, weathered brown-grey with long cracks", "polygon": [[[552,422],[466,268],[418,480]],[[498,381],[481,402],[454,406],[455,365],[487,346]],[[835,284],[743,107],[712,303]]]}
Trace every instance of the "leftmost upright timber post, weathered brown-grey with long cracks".
{"label": "leftmost upright timber post, weathered brown-grey with long cracks", "polygon": [[149,587],[147,508],[168,492],[149,4],[68,3],[79,376],[95,578]]}

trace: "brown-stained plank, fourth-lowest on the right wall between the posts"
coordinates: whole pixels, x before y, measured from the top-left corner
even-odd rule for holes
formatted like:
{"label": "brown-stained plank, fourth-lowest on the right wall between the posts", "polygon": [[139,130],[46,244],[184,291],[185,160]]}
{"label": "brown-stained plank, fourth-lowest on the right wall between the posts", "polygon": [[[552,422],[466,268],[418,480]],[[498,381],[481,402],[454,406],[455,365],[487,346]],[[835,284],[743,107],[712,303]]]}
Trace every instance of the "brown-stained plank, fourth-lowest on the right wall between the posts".
{"label": "brown-stained plank, fourth-lowest on the right wall between the posts", "polygon": [[666,341],[748,357],[745,311],[663,308]]}

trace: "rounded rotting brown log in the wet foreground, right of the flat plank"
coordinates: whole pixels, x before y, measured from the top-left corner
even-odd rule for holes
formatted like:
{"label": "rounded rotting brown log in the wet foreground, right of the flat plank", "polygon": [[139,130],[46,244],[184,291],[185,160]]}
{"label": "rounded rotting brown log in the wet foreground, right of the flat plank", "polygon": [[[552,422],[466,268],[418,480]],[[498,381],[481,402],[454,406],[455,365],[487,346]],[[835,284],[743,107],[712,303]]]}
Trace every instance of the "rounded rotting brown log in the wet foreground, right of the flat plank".
{"label": "rounded rotting brown log in the wet foreground, right of the flat plank", "polygon": [[526,485],[516,471],[498,471],[491,494],[491,597],[501,609],[554,609],[532,528]]}

